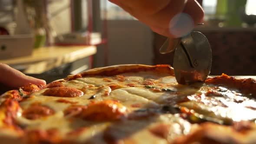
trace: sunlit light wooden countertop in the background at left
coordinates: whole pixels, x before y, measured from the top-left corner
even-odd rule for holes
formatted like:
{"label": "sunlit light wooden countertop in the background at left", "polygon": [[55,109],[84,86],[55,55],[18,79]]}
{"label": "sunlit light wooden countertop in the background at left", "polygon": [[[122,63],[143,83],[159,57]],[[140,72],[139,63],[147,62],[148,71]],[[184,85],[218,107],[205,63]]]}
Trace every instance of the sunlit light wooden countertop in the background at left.
{"label": "sunlit light wooden countertop in the background at left", "polygon": [[31,56],[0,59],[0,62],[15,69],[25,69],[25,73],[42,73],[60,65],[92,56],[96,52],[96,46],[50,46],[33,49]]}

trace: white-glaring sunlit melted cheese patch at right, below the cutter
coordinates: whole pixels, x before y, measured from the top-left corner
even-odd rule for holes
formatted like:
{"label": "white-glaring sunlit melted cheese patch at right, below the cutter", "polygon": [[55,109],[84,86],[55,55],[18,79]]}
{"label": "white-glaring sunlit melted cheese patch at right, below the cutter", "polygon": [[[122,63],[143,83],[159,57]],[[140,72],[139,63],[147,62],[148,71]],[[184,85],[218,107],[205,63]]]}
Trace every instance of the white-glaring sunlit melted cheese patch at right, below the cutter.
{"label": "white-glaring sunlit melted cheese patch at right, below the cutter", "polygon": [[179,105],[201,115],[223,120],[224,123],[225,121],[229,123],[230,121],[256,120],[256,100],[232,88],[203,85],[196,95],[190,95],[187,98],[190,101]]}

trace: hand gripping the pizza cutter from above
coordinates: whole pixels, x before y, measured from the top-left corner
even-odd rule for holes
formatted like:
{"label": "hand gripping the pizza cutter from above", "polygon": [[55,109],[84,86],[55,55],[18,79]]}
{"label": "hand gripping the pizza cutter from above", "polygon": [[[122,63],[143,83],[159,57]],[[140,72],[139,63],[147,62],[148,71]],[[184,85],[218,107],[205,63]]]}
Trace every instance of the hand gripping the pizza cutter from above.
{"label": "hand gripping the pizza cutter from above", "polygon": [[[109,0],[163,36],[177,38],[190,32],[203,19],[196,0]],[[186,13],[183,20],[177,14]]]}

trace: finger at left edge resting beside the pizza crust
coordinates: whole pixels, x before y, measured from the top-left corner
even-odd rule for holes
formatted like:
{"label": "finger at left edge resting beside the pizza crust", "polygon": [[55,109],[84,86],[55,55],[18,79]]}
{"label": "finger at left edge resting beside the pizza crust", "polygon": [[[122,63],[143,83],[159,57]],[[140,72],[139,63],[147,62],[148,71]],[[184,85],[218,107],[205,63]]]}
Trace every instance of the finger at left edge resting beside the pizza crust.
{"label": "finger at left edge resting beside the pizza crust", "polygon": [[10,87],[22,87],[30,83],[46,85],[46,81],[27,76],[22,72],[0,63],[0,83]]}

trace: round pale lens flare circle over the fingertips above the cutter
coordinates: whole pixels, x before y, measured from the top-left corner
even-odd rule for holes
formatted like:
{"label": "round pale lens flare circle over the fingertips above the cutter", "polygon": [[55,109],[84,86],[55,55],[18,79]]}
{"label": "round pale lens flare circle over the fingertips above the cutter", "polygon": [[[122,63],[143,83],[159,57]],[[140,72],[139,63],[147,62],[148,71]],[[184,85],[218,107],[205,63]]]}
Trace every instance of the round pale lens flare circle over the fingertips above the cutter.
{"label": "round pale lens flare circle over the fingertips above the cutter", "polygon": [[194,28],[194,20],[187,13],[178,13],[170,21],[170,33],[176,38],[186,36]]}

